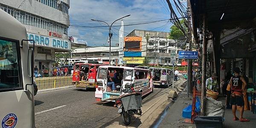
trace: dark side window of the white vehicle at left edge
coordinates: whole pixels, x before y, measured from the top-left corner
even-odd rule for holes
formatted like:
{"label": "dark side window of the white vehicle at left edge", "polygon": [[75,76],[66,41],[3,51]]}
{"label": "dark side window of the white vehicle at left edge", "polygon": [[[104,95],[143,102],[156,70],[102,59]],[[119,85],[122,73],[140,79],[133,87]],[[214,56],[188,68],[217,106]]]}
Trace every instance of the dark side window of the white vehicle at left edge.
{"label": "dark side window of the white vehicle at left edge", "polygon": [[0,40],[0,89],[22,88],[15,42]]}

